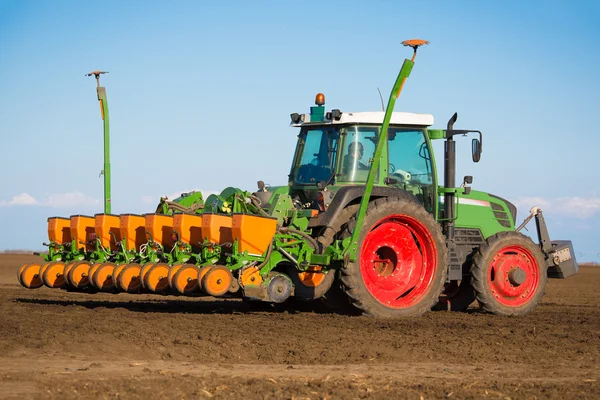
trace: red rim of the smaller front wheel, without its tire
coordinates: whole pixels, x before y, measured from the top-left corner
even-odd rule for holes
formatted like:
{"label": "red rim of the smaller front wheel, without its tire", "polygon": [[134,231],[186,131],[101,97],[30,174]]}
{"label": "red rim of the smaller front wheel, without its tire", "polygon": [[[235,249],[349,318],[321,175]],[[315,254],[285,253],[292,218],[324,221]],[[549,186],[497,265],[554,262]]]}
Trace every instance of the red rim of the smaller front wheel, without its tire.
{"label": "red rim of the smaller front wheel, without its tire", "polygon": [[[521,279],[515,279],[517,273]],[[520,280],[524,281],[520,283]],[[540,284],[537,260],[521,246],[506,246],[494,255],[490,263],[488,283],[492,295],[501,304],[509,307],[527,304]]]}

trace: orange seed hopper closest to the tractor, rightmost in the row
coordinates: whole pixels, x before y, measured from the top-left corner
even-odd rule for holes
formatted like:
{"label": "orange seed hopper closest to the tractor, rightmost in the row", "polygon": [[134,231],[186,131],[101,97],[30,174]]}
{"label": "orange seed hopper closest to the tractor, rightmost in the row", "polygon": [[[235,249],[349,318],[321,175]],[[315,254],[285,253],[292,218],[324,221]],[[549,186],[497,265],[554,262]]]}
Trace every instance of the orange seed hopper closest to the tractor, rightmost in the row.
{"label": "orange seed hopper closest to the tractor, rightmost in the row", "polygon": [[273,240],[277,229],[277,218],[259,217],[248,214],[234,214],[231,232],[238,240],[240,252],[262,255]]}

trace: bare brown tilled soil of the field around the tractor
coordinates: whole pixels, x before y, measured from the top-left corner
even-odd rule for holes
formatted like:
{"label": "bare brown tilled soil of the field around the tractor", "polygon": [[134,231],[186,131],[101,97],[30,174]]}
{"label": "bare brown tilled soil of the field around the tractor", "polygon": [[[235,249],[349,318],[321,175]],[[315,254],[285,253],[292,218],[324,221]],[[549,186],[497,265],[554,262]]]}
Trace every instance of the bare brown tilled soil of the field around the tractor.
{"label": "bare brown tilled soil of the field around the tractor", "polygon": [[600,268],[530,315],[398,320],[28,290],[0,255],[0,398],[600,398]]}

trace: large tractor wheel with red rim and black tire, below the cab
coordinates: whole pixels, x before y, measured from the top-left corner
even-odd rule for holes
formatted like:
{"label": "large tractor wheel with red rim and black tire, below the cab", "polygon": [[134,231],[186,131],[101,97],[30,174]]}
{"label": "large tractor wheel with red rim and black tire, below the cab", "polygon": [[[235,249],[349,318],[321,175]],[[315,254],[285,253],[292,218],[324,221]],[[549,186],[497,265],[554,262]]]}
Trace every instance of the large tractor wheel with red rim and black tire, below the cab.
{"label": "large tractor wheel with red rim and black tire, below the cab", "polygon": [[[346,234],[355,225],[353,218]],[[400,242],[406,247],[398,250]],[[447,274],[448,250],[433,216],[413,200],[380,198],[369,204],[356,261],[342,268],[341,284],[363,314],[417,316],[437,303]]]}

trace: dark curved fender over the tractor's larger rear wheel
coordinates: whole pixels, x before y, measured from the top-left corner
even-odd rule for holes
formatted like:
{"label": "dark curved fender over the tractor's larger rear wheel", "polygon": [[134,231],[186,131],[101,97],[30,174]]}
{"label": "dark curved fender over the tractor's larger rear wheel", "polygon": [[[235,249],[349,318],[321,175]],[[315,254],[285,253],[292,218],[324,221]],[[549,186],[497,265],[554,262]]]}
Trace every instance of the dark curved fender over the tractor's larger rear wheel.
{"label": "dark curved fender over the tractor's larger rear wheel", "polygon": [[[331,200],[331,203],[325,212],[319,213],[316,217],[313,217],[308,227],[313,228],[317,226],[329,227],[337,221],[342,211],[349,205],[360,202],[362,196],[365,193],[365,185],[356,186],[344,186],[335,192],[335,196]],[[371,192],[371,201],[381,197],[408,197],[414,199],[415,202],[419,202],[417,198],[410,192],[395,187],[386,186],[373,186]]]}

